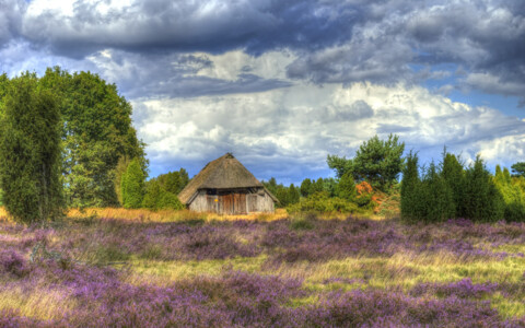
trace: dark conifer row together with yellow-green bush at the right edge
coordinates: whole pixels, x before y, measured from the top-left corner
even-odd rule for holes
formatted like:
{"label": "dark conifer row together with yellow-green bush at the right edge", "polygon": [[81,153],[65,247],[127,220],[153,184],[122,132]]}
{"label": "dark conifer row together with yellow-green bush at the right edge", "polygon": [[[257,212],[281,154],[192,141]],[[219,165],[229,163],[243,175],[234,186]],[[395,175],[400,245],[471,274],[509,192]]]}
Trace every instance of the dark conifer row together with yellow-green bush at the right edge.
{"label": "dark conifer row together with yellow-green bush at the right edge", "polygon": [[401,216],[408,221],[440,222],[454,218],[472,221],[525,221],[525,178],[521,163],[487,169],[478,155],[469,166],[443,152],[441,162],[420,167],[410,152],[401,181]]}

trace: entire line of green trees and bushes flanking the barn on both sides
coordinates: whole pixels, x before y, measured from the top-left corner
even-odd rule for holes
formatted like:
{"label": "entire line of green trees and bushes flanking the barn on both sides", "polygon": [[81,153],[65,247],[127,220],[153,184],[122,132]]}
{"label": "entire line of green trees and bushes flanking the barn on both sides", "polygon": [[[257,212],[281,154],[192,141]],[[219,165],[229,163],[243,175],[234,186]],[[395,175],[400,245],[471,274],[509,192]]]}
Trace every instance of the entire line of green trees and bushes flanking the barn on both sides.
{"label": "entire line of green trees and bushes flanking the barn on both sides", "polygon": [[[144,143],[131,125],[131,105],[97,74],[49,68],[43,77],[0,75],[0,187],[20,222],[61,215],[68,207],[182,209],[184,168],[148,178]],[[419,166],[417,153],[390,134],[364,141],[352,159],[328,155],[335,178],[300,186],[262,181],[290,211],[353,212],[374,206],[375,192],[400,183],[401,216],[435,222],[525,220],[525,163],[491,175],[478,156],[467,166],[446,151]]]}

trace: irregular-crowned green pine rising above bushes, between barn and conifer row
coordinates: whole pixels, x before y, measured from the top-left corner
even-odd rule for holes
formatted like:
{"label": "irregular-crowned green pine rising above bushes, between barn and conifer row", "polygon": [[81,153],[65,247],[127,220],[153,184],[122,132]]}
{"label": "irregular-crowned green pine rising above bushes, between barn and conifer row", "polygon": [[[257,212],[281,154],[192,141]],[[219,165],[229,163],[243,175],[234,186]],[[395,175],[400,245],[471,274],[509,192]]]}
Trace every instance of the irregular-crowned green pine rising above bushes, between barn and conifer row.
{"label": "irregular-crowned green pine rising above bushes, between barn and conifer row", "polygon": [[361,144],[354,159],[328,155],[327,163],[336,169],[339,178],[350,172],[357,181],[366,180],[373,187],[386,190],[402,169],[404,150],[405,142],[399,142],[398,136],[390,134],[386,141],[375,136]]}

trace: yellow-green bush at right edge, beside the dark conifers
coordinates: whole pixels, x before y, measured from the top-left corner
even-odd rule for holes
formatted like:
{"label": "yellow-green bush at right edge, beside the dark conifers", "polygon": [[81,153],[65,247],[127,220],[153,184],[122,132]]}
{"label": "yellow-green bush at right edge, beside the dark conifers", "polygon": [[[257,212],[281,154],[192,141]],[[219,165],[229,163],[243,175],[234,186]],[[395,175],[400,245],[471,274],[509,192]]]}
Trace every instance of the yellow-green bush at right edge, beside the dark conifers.
{"label": "yellow-green bush at right edge, beside the dark conifers", "polygon": [[524,177],[511,177],[505,167],[495,167],[494,184],[503,197],[504,216],[506,221],[525,221],[525,188]]}

